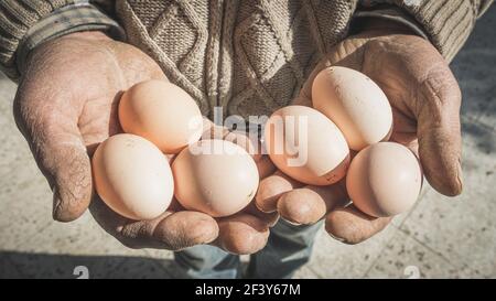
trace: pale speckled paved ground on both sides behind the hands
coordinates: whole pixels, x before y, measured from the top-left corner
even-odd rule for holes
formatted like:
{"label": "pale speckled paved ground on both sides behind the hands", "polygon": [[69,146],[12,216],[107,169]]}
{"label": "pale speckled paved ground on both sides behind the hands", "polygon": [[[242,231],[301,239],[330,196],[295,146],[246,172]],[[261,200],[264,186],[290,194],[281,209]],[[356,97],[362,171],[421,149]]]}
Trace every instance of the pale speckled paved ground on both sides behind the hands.
{"label": "pale speckled paved ground on both sides behind the hands", "polygon": [[[373,239],[342,245],[320,233],[299,278],[496,278],[496,7],[477,23],[453,69],[464,94],[465,191],[425,187],[417,206]],[[171,278],[171,252],[129,250],[85,215],[51,221],[51,194],[11,116],[15,86],[0,75],[0,278]]]}

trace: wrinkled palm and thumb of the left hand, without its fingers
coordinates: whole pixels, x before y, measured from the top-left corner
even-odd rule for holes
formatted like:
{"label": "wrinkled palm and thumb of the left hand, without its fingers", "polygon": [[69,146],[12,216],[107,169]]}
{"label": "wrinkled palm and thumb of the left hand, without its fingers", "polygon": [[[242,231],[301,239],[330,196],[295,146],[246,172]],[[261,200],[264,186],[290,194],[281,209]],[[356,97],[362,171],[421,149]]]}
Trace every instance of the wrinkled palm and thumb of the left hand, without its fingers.
{"label": "wrinkled palm and thumb of the left hand, without its fingers", "polygon": [[14,117],[54,193],[53,216],[77,218],[91,200],[89,152],[120,131],[119,93],[164,78],[151,58],[100,32],[74,33],[31,52]]}

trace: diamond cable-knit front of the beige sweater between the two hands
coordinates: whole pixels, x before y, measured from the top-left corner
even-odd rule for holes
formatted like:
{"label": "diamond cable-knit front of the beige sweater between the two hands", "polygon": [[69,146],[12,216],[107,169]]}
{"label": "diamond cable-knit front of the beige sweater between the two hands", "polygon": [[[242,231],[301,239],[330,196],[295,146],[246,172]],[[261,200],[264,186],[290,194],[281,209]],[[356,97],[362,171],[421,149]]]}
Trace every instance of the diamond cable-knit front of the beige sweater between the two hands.
{"label": "diamond cable-knit front of the beige sweater between the two hands", "polygon": [[[356,1],[117,1],[129,42],[159,62],[204,114],[269,114],[290,104],[344,39]],[[171,42],[173,41],[173,42]]]}

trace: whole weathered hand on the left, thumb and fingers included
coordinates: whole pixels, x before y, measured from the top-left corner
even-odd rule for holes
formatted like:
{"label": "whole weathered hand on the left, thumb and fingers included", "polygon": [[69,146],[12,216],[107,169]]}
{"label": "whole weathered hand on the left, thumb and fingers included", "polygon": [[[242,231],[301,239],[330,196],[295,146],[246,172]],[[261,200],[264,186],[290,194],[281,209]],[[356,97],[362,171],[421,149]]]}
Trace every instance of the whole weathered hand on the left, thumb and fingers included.
{"label": "whole weathered hand on the left, thumb and fingers included", "polygon": [[216,221],[173,203],[159,218],[130,221],[94,194],[90,155],[99,142],[121,131],[117,118],[121,93],[142,80],[166,80],[152,58],[103,33],[83,32],[40,45],[26,65],[14,117],[52,187],[55,219],[76,219],[89,206],[103,228],[132,248],[177,250],[214,244],[249,254],[266,245],[276,216],[255,206]]}

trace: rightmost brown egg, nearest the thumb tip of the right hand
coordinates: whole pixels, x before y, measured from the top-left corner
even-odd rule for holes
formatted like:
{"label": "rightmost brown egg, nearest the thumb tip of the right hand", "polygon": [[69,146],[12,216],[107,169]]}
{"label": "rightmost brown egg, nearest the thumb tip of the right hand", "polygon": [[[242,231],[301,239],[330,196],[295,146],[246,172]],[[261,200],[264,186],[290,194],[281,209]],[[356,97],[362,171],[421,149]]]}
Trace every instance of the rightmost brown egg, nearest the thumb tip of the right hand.
{"label": "rightmost brown egg, nearest the thumb tip of the right hand", "polygon": [[408,211],[421,186],[419,160],[395,142],[379,142],[358,152],[346,176],[346,189],[355,206],[375,217]]}

